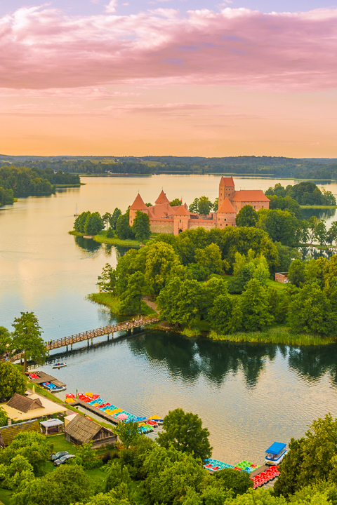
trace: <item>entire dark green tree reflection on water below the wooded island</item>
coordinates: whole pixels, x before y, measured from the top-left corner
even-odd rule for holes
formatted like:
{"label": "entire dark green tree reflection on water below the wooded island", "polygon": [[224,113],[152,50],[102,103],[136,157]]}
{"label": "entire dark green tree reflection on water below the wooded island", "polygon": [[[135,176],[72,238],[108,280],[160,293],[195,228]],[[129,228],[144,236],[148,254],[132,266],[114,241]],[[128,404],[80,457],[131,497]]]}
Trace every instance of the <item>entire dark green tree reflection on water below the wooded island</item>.
{"label": "entire dark green tree reflection on water below the wooded island", "polygon": [[172,377],[196,382],[203,375],[219,388],[230,375],[242,371],[246,387],[258,384],[266,361],[275,361],[277,351],[289,367],[303,378],[317,381],[329,372],[337,386],[336,345],[293,347],[275,344],[236,344],[188,339],[175,333],[150,332],[128,342],[133,354],[146,356],[152,365],[165,365]]}

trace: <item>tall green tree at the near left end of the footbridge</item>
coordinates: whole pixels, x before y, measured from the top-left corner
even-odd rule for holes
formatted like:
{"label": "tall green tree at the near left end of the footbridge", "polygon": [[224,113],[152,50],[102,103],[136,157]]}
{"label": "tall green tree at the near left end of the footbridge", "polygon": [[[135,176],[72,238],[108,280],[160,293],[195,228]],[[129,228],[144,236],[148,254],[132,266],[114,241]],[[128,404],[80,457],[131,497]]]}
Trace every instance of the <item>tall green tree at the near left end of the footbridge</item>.
{"label": "tall green tree at the near left end of the footbridge", "polygon": [[15,354],[23,354],[23,372],[27,370],[27,360],[44,363],[47,356],[46,344],[41,338],[41,327],[34,312],[21,312],[20,318],[15,318],[13,327],[12,349]]}

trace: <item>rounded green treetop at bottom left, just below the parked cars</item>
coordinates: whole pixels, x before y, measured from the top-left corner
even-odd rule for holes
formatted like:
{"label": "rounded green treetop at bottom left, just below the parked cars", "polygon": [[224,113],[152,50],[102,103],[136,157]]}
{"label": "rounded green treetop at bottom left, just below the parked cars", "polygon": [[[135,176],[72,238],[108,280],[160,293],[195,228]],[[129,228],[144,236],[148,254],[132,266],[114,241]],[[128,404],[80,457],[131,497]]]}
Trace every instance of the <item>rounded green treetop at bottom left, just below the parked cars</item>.
{"label": "rounded green treetop at bottom left, just below the parked cars", "polygon": [[25,481],[11,500],[11,505],[72,505],[91,499],[91,480],[78,465],[61,465],[53,473]]}

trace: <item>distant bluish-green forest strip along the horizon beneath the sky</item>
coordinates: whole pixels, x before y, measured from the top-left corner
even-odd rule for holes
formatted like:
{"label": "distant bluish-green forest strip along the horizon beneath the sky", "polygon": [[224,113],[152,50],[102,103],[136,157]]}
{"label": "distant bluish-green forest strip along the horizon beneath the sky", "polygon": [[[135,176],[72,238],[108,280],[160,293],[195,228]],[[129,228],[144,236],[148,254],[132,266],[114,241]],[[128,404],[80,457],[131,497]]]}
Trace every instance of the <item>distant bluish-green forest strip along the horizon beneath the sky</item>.
{"label": "distant bluish-green forest strip along the horizon beneath the sky", "polygon": [[227,156],[204,158],[199,156],[38,156],[0,155],[0,164],[15,163],[16,166],[40,169],[52,168],[69,173],[233,173],[250,175],[272,175],[298,179],[337,178],[337,159],[296,159],[282,156]]}

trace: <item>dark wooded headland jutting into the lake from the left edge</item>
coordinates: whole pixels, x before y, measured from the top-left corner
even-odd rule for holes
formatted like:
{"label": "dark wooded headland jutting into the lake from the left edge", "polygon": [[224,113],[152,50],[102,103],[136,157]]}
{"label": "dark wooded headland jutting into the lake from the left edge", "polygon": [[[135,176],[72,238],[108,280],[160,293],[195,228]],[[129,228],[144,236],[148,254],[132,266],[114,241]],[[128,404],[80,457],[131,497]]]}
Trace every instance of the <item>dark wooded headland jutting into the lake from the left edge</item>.
{"label": "dark wooded headland jutting into the lake from the left edge", "polygon": [[16,166],[0,168],[0,205],[13,203],[19,196],[41,196],[55,193],[55,185],[79,184],[79,175],[54,173],[51,168],[39,169]]}

